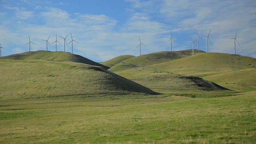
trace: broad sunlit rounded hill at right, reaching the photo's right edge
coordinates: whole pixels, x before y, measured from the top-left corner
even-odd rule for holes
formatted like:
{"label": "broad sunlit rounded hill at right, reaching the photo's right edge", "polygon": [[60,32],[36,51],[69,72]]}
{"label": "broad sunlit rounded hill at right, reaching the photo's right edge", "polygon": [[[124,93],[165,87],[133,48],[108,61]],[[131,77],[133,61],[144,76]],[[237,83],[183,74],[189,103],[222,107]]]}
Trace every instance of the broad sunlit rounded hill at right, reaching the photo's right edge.
{"label": "broad sunlit rounded hill at right, reaching the photo's right edge", "polygon": [[232,71],[232,69],[256,68],[254,67],[255,65],[256,58],[248,56],[223,53],[202,53],[180,60],[151,65],[150,67],[144,68],[144,70],[194,74],[198,72]]}

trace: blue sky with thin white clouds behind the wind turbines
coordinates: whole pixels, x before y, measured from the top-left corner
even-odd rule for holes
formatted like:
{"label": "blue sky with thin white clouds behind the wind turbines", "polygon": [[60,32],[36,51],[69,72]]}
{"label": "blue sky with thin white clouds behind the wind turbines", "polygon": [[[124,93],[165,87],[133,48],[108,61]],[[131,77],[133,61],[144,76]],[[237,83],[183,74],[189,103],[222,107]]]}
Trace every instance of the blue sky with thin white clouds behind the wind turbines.
{"label": "blue sky with thin white clouds behind the wind turbines", "polygon": [[[256,58],[255,0],[0,0],[0,43],[2,56],[46,50],[55,41],[64,51],[65,37],[74,43],[73,52],[96,62],[116,56],[140,54],[139,36],[146,46],[142,54],[170,50],[170,31],[175,41],[172,50],[192,48],[196,40],[210,33],[209,52],[236,54]],[[206,38],[199,39],[206,51]],[[195,42],[197,49],[197,42]],[[55,44],[48,46],[55,51]],[[71,44],[66,46],[71,52]]]}

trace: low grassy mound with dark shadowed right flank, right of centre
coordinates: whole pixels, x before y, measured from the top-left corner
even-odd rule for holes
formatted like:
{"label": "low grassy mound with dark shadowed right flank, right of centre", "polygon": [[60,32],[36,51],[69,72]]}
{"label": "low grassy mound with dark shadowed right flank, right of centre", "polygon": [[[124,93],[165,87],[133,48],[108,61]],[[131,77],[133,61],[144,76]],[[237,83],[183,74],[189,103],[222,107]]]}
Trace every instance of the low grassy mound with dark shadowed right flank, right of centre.
{"label": "low grassy mound with dark shadowed right flank, right of centre", "polygon": [[190,92],[192,92],[191,90],[228,90],[198,76],[128,70],[116,73],[157,92],[180,93],[184,90]]}

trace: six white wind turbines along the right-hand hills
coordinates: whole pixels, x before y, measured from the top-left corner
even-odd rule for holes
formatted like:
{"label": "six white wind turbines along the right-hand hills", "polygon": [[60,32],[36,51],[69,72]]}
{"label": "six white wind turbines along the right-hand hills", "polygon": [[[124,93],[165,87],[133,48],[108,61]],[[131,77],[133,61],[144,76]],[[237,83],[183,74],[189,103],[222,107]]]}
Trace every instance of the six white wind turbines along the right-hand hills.
{"label": "six white wind turbines along the right-hand hills", "polygon": [[[211,32],[211,30],[210,30],[210,32]],[[208,40],[210,41],[210,44],[212,44],[212,42],[211,42],[211,40],[209,38],[210,32],[208,33],[207,36],[204,36],[204,37],[206,37],[206,52],[208,52]],[[202,37],[199,36],[197,30],[196,30],[196,33],[197,33],[197,50],[199,50],[199,38],[202,38]],[[236,34],[237,34],[237,30],[236,30]],[[190,36],[190,38],[191,38],[191,36]],[[140,36],[139,36],[139,39],[140,39]],[[236,54],[236,42],[238,43],[238,41],[236,39],[236,35],[235,35],[234,38],[230,38],[230,39],[234,39],[234,54]],[[174,38],[172,37],[172,32],[171,32],[171,37],[170,37],[170,40],[169,40],[170,41],[171,51],[172,51],[172,40],[174,40]],[[192,40],[192,55],[194,56],[194,42],[196,42],[196,40],[193,40],[192,38],[191,38],[191,40]],[[145,44],[143,44],[140,41],[140,43],[138,45],[138,46],[140,46],[140,55],[141,55],[141,45],[146,46]],[[238,45],[240,45],[240,44],[238,43]],[[137,48],[138,48],[138,46],[137,46]]]}

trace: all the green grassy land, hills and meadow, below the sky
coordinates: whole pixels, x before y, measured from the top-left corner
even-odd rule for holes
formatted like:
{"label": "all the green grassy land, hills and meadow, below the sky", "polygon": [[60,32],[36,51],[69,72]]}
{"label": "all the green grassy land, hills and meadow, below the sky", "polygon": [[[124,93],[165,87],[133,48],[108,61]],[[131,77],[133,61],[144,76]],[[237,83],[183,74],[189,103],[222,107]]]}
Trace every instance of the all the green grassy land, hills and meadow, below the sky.
{"label": "all the green grassy land, hills and meadow, below the sky", "polygon": [[126,55],[110,72],[43,53],[0,60],[1,144],[256,143],[255,58]]}

